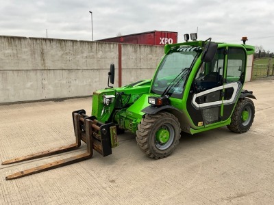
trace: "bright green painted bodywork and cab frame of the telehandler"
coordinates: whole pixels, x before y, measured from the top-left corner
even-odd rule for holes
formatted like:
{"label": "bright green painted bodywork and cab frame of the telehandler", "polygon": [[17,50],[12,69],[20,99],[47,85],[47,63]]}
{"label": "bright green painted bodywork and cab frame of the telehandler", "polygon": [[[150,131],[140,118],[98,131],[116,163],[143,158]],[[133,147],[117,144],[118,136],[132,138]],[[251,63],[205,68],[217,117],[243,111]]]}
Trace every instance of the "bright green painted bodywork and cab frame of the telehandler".
{"label": "bright green painted bodywork and cab frame of the telehandler", "polygon": [[[165,55],[169,55],[173,51],[174,48],[183,48],[184,46],[188,47],[199,47],[201,51],[203,51],[205,42],[203,41],[195,41],[195,42],[184,42],[179,44],[167,44],[164,47]],[[250,55],[254,53],[254,46],[242,45],[242,44],[225,44],[225,43],[218,43],[218,48],[225,48],[228,49],[229,47],[236,47],[242,49],[245,52],[245,55]],[[191,67],[189,68],[188,75],[184,82],[184,92],[182,92],[182,96],[180,97],[173,97],[170,96],[170,104],[174,109],[166,108],[162,111],[169,111],[175,115],[180,124],[182,131],[187,133],[200,133],[202,131],[208,131],[212,128],[217,128],[221,126],[225,126],[230,124],[231,119],[230,117],[225,120],[220,120],[219,122],[215,122],[212,124],[203,124],[201,126],[195,124],[190,117],[190,113],[187,109],[187,100],[188,95],[192,92],[191,87],[192,83],[197,75],[197,70],[200,68],[202,61],[201,61],[202,53],[199,53],[195,60],[192,62]],[[165,58],[160,61],[158,68],[155,71],[155,75],[160,69],[162,62]],[[224,59],[226,60],[226,59]],[[223,69],[226,69],[225,67]],[[246,63],[245,63],[246,69]],[[227,77],[226,73],[225,77]],[[165,79],[166,81],[171,81],[168,77]],[[233,81],[233,77],[231,81]],[[132,83],[131,85],[126,85],[123,87],[116,87],[116,88],[108,88],[105,90],[97,90],[93,93],[92,97],[92,115],[94,115],[97,120],[108,123],[114,122],[119,128],[123,128],[127,131],[131,131],[132,133],[136,133],[138,130],[138,124],[140,124],[142,118],[145,117],[146,113],[142,110],[146,107],[149,107],[148,98],[150,96],[161,96],[161,94],[156,94],[152,92],[151,87],[153,83],[155,83],[156,79],[139,81],[137,83]],[[229,77],[227,77],[227,81],[229,81]],[[225,88],[223,88],[225,91]],[[110,105],[105,105],[103,103],[103,96],[114,96]],[[223,98],[222,98],[223,100]],[[223,105],[221,106],[221,116],[223,115]],[[245,113],[242,113],[242,118],[247,118]],[[156,135],[158,141],[162,141],[162,143],[169,140],[169,132],[160,129]]]}

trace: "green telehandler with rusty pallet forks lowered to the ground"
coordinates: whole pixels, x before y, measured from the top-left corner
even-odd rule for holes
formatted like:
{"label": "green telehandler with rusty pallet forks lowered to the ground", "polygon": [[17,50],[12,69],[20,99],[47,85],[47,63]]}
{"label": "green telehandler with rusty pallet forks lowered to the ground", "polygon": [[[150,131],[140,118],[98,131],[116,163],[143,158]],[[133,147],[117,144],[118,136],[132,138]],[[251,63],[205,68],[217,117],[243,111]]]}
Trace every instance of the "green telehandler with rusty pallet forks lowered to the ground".
{"label": "green telehandler with rusty pallet forks lowered to the ground", "polygon": [[112,87],[114,64],[108,73],[108,88],[92,96],[92,116],[73,111],[76,143],[62,148],[19,157],[2,164],[16,163],[73,150],[87,143],[87,152],[7,176],[19,178],[88,159],[92,150],[103,156],[118,146],[117,133],[136,133],[142,152],[162,159],[175,150],[181,133],[201,133],[227,126],[245,133],[253,123],[255,108],[251,91],[243,90],[247,55],[254,46],[198,41],[195,33],[186,42],[166,44],[164,57],[153,79],[123,87]]}

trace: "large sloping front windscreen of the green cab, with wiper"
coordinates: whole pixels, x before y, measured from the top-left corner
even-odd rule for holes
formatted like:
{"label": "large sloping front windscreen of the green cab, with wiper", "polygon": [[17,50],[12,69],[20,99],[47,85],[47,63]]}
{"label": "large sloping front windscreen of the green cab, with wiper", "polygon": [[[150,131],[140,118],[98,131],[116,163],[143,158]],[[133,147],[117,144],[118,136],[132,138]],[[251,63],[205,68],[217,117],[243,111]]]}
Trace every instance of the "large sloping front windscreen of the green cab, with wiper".
{"label": "large sloping front windscreen of the green cab, with wiper", "polygon": [[164,57],[155,74],[151,93],[182,97],[186,77],[199,53],[200,47],[180,46],[172,49]]}

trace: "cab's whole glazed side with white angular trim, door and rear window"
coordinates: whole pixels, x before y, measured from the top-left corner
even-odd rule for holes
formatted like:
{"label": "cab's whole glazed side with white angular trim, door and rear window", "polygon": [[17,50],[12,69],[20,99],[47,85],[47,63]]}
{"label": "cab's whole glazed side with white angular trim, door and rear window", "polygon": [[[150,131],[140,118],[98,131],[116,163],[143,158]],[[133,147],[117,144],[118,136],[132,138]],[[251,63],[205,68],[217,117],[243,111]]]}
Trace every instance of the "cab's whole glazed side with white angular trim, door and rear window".
{"label": "cab's whole glazed side with white angular trim, door and rear window", "polygon": [[242,46],[219,44],[212,61],[200,64],[187,97],[195,126],[229,119],[245,82],[246,58]]}

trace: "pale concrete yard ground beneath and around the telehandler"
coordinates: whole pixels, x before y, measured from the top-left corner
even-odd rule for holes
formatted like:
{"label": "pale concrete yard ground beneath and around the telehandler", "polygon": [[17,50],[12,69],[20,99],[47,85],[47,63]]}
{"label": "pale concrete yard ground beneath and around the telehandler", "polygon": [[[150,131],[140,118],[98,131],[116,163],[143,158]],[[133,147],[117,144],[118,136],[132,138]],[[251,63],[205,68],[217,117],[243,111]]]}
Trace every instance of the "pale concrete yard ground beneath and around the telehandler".
{"label": "pale concrete yard ground beneath and around the telehandler", "polygon": [[[0,165],[0,204],[274,204],[274,81],[246,83],[258,100],[251,130],[182,135],[171,156],[149,159],[135,136],[92,159],[18,178],[14,172],[84,152]],[[71,111],[92,98],[1,105],[0,161],[73,143]]]}

